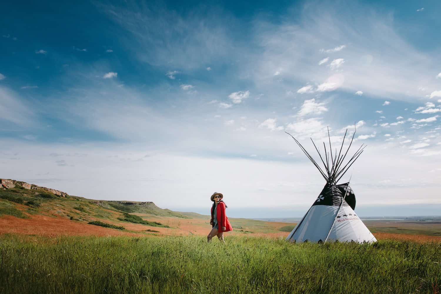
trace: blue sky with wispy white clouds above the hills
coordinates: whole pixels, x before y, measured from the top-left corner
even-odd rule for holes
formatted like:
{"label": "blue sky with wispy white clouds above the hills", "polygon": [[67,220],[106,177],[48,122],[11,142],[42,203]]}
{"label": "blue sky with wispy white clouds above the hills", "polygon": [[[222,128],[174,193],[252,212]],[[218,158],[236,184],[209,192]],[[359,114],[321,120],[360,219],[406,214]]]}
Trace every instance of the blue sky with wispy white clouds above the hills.
{"label": "blue sky with wispy white clouds above the hills", "polygon": [[356,127],[355,211],[440,215],[441,2],[62,2],[0,4],[0,178],[301,217],[325,181],[285,132],[319,160]]}

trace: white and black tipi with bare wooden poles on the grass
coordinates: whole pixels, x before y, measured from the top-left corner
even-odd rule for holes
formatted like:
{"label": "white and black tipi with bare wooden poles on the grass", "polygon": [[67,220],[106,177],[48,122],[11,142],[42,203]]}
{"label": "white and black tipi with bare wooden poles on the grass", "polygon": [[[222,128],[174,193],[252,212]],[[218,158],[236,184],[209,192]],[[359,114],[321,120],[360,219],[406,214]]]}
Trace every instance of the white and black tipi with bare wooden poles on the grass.
{"label": "white and black tipi with bare wooden poles on the grass", "polygon": [[320,156],[321,162],[325,167],[325,171],[319,167],[317,162],[312,156],[310,156],[306,149],[303,148],[299,141],[297,141],[291,134],[287,133],[294,139],[297,145],[299,145],[303,153],[305,153],[305,155],[311,160],[314,166],[318,168],[321,175],[326,180],[326,185],[314,201],[314,204],[291,231],[286,240],[291,242],[326,242],[338,240],[340,242],[354,241],[359,243],[377,241],[374,235],[354,212],[355,194],[354,190],[349,186],[349,182],[337,185],[337,182],[346,171],[348,171],[349,167],[351,167],[361,153],[363,153],[363,149],[366,147],[361,145],[349,161],[344,164],[345,157],[348,154],[349,148],[351,148],[355,136],[354,132],[351,143],[343,154],[342,149],[347,133],[348,130],[346,130],[346,133],[344,134],[340,152],[337,155],[337,149],[335,149],[335,153],[332,152],[328,129],[329,152],[331,154],[329,156],[329,152],[326,151],[326,145],[323,142],[323,146],[325,147],[324,157],[321,156],[319,149],[311,138],[311,141]]}

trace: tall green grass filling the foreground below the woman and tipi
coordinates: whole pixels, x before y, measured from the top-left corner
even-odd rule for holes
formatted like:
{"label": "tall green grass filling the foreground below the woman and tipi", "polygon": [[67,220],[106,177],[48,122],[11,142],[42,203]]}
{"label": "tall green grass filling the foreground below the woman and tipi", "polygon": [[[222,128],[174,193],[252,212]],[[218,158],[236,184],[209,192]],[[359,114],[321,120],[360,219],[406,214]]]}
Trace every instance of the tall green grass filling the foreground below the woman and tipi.
{"label": "tall green grass filling the foreground below the woman and tipi", "polygon": [[1,293],[439,293],[439,244],[0,236]]}

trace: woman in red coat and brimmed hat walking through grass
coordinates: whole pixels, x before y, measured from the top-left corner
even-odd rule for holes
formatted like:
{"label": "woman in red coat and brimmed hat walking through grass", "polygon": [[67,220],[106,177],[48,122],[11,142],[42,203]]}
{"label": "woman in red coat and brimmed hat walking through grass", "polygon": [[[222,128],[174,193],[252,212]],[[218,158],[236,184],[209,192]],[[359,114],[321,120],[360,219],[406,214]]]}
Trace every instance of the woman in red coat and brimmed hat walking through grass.
{"label": "woman in red coat and brimmed hat walking through grass", "polygon": [[225,205],[224,201],[222,199],[224,198],[224,195],[221,193],[214,193],[211,195],[211,201],[213,201],[213,206],[211,207],[211,220],[210,224],[212,225],[213,229],[207,236],[207,241],[210,242],[211,238],[213,236],[217,235],[217,238],[225,243],[224,241],[224,232],[232,231],[232,227],[230,222],[228,221],[228,217],[225,214],[225,208],[227,208],[227,205]]}

